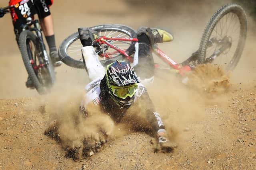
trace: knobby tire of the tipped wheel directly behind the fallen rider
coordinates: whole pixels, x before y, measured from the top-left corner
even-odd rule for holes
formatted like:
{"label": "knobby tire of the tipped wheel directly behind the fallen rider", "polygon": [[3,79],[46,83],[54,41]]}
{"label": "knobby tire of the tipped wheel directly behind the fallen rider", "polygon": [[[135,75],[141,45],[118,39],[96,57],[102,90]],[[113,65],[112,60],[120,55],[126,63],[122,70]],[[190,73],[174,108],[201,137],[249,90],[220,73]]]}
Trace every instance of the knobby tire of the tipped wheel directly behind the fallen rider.
{"label": "knobby tire of the tipped wheel directly behind the fallen rider", "polygon": [[[123,31],[124,33],[127,33],[128,35],[130,35],[130,37],[136,38],[136,32],[134,31],[134,29],[132,29],[126,25],[104,24],[104,25],[97,25],[97,26],[93,26],[93,27],[89,27],[89,28],[96,30],[96,31],[114,29],[114,30],[118,30],[118,31]],[[58,52],[59,52],[60,59],[63,61],[63,63],[67,64],[68,66],[74,67],[74,68],[84,69],[83,61],[78,61],[78,60],[72,59],[67,53],[68,47],[74,41],[77,41],[78,39],[79,39],[78,32],[71,34],[66,39],[64,39],[64,41],[62,41]],[[131,45],[128,47],[128,49],[126,49],[126,51],[129,52],[130,49],[133,48],[134,44],[135,44],[135,42],[132,42]],[[102,60],[102,61],[100,61],[100,63],[102,63],[103,66],[106,66],[109,63],[112,63],[116,60],[122,60],[122,59],[124,59],[124,57],[122,55],[118,55],[111,59]]]}

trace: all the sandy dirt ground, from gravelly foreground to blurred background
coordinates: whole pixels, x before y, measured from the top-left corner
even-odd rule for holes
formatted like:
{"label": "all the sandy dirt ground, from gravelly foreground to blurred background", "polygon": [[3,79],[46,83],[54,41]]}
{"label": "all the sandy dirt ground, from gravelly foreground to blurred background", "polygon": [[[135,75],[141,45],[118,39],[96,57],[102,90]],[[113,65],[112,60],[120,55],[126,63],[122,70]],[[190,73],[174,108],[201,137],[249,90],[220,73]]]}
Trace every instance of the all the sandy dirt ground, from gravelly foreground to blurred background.
{"label": "all the sandy dirt ground, from gravelly foreground to blurred background", "polygon": [[[154,5],[157,1],[143,2],[54,1],[51,11],[57,45],[81,26],[166,27],[174,33],[174,41],[162,44],[161,49],[181,62],[198,48],[212,14],[231,1],[183,0],[162,10]],[[0,2],[0,6],[7,3]],[[85,71],[62,64],[56,68],[57,82],[51,94],[40,96],[27,89],[27,73],[10,16],[4,16],[0,19],[0,169],[256,169],[256,34],[250,16],[248,22],[246,47],[230,76],[206,66],[198,70],[192,84],[184,86],[178,77],[161,72],[148,87],[167,129],[172,129],[172,140],[178,145],[174,152],[154,153],[152,137],[114,126],[115,135],[100,152],[74,161],[44,132],[56,115],[68,119],[76,111],[88,82]],[[214,81],[228,82],[216,88],[208,83],[206,72]],[[67,129],[66,134],[70,132]]]}

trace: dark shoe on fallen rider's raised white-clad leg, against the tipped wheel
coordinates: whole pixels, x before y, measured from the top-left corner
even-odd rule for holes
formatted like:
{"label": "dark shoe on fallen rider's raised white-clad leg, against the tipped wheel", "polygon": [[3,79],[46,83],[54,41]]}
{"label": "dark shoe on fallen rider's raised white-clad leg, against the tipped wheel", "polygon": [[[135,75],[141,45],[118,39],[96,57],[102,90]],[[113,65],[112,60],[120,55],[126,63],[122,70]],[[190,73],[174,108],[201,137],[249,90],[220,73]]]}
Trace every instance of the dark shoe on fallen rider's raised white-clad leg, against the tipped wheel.
{"label": "dark shoe on fallen rider's raised white-clad leg, against the tipped wheel", "polygon": [[78,28],[78,33],[79,39],[84,47],[92,45],[92,41],[98,38],[98,32],[87,27]]}

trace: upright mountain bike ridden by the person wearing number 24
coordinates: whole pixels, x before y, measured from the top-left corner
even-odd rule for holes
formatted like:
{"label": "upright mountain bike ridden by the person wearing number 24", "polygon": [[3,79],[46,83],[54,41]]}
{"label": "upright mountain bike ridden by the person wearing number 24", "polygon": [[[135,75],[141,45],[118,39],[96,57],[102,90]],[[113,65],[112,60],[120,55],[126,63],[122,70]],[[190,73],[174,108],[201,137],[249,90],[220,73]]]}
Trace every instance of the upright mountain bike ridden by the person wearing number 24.
{"label": "upright mountain bike ridden by the person wearing number 24", "polygon": [[[0,17],[9,13],[11,8],[18,8],[18,6],[0,8]],[[26,15],[26,24],[22,25],[22,32],[18,39],[19,49],[36,90],[39,94],[45,94],[55,81],[54,65],[47,54],[39,21],[32,20],[28,14]]]}

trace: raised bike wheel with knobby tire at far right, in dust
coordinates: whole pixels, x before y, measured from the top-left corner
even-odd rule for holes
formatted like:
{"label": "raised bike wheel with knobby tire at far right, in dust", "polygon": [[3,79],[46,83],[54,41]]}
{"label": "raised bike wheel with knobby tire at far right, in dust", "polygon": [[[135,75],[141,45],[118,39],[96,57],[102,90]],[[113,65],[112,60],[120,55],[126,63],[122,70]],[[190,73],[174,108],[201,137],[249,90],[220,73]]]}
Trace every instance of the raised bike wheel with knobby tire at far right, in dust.
{"label": "raised bike wheel with knobby tire at far right, in dust", "polygon": [[[242,55],[247,35],[247,19],[243,8],[236,4],[222,6],[208,22],[198,50],[198,63],[220,50],[221,42],[226,39],[230,47],[226,48],[212,63],[226,70],[233,70]],[[217,43],[212,43],[215,41]]]}

